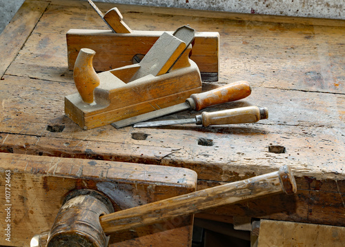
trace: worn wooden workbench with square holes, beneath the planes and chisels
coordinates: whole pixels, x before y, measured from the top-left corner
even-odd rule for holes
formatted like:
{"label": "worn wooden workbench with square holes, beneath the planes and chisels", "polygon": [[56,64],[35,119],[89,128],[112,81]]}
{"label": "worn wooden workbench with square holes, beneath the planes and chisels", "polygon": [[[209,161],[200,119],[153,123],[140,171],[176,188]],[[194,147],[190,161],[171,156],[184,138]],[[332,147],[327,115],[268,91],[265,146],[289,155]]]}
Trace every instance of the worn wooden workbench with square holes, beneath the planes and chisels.
{"label": "worn wooden workbench with square holes, beneath the planes and chisels", "polygon": [[[110,3],[97,3],[106,12]],[[198,215],[345,226],[345,21],[117,5],[132,30],[189,24],[220,34],[219,82],[247,80],[246,100],[208,110],[267,107],[269,119],[236,126],[81,130],[63,112],[77,92],[66,32],[107,29],[86,1],[27,0],[0,36],[0,150],[195,170],[198,189],[288,164],[297,194],[275,195]],[[185,118],[181,112],[169,118]],[[206,141],[205,141],[206,140]],[[282,146],[286,152],[269,152]],[[283,148],[283,149],[284,149]]]}

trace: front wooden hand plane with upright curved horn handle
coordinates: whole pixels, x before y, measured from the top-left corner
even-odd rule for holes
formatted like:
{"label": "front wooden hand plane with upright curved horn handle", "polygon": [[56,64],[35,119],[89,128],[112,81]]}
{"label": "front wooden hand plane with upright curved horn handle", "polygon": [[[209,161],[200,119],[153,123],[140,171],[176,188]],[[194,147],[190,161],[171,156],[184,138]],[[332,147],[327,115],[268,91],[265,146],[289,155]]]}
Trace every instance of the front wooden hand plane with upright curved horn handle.
{"label": "front wooden hand plane with upright curved horn handle", "polygon": [[164,32],[136,64],[97,74],[95,51],[80,50],[74,68],[79,93],[65,97],[65,113],[81,128],[90,129],[183,103],[201,92],[197,64],[189,59],[195,30]]}

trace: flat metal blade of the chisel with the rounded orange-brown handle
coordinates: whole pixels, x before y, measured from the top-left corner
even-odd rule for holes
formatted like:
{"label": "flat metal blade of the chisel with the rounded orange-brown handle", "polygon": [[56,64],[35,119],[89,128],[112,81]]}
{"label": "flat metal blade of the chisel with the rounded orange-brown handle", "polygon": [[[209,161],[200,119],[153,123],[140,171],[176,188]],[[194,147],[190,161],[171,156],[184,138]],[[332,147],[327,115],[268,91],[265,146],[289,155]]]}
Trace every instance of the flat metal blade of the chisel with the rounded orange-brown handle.
{"label": "flat metal blade of the chisel with the rounded orange-brown handle", "polygon": [[122,128],[125,126],[130,126],[135,123],[148,121],[150,119],[155,119],[156,117],[164,117],[166,115],[170,115],[175,112],[181,112],[183,110],[189,110],[189,109],[190,109],[189,103],[186,103],[186,102],[179,103],[175,106],[169,106],[169,107],[162,108],[159,110],[154,110],[153,112],[148,112],[139,116],[130,117],[128,119],[116,121],[112,123],[111,125],[114,126],[115,128]]}

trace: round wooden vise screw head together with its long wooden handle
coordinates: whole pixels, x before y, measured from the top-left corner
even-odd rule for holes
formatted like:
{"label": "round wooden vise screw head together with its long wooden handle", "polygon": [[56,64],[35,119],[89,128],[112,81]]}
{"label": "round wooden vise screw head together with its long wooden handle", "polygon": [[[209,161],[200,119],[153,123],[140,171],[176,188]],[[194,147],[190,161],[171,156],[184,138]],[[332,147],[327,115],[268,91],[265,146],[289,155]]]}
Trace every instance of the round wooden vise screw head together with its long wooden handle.
{"label": "round wooden vise screw head together with its long wooden handle", "polygon": [[265,195],[296,192],[288,166],[250,179],[128,208],[115,213],[110,200],[93,190],[76,190],[61,207],[48,237],[48,247],[108,245],[110,233],[154,224],[173,217],[237,204]]}

